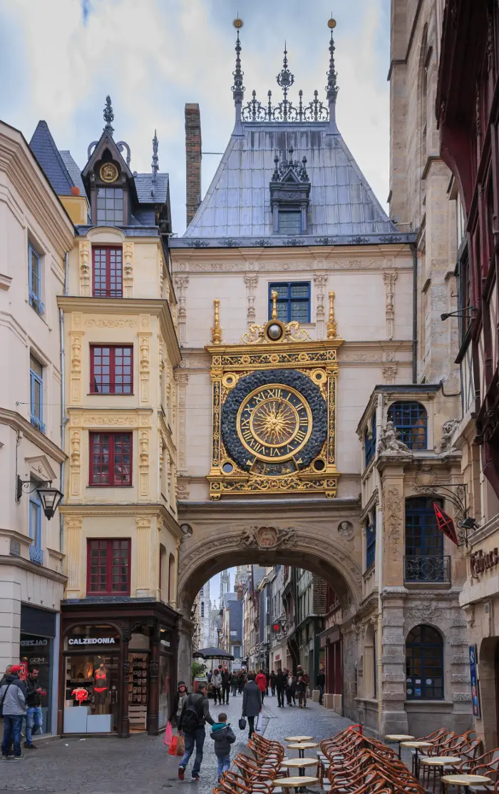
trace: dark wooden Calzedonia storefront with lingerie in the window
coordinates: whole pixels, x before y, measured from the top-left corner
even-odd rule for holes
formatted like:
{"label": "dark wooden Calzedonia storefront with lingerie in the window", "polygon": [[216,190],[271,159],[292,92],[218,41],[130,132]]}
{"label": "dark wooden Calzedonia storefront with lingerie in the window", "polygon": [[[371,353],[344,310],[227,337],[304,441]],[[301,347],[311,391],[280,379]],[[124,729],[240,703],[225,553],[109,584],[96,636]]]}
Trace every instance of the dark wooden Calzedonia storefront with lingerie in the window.
{"label": "dark wooden Calzedonia storefront with lingerie in the window", "polygon": [[166,726],[177,615],[161,603],[139,604],[63,604],[59,732],[154,735]]}

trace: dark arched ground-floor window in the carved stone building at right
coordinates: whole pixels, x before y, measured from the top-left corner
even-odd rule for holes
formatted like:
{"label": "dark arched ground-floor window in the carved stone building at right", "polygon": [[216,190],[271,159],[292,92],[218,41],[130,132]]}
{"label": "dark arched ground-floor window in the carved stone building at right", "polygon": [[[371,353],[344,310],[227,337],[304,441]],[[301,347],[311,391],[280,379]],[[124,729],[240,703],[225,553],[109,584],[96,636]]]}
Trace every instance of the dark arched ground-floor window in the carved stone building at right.
{"label": "dark arched ground-floor window in the carved stone building at right", "polygon": [[408,700],[443,700],[443,641],[432,626],[415,626],[405,641]]}

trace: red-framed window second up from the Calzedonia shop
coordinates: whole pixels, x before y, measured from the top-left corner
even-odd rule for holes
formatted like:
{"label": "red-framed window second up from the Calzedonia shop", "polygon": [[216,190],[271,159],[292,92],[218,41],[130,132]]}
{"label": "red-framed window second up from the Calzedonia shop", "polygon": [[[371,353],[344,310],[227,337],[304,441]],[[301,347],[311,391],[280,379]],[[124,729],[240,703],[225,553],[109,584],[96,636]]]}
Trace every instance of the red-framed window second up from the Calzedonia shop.
{"label": "red-framed window second up from the Calzedonia shop", "polygon": [[90,485],[132,485],[132,434],[90,433]]}

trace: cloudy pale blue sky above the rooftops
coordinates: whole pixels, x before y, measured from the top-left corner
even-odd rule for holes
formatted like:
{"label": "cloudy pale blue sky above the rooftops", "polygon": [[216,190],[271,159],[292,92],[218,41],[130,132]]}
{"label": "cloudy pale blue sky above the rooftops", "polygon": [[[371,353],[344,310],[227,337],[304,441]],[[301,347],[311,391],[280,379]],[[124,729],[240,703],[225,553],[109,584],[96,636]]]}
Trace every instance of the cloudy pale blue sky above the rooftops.
{"label": "cloudy pale blue sky above the rooftops", "polygon": [[[235,30],[241,31],[245,101],[265,100],[286,40],[290,98],[325,98],[328,28],[336,18],[337,121],[384,205],[389,181],[390,0],[0,0],[0,118],[29,140],[40,119],[80,168],[102,133],[106,94],[115,137],[132,170],[171,179],[174,230],[185,229],[184,105],[198,102],[204,152],[223,152],[234,124]],[[203,158],[203,194],[220,156]]]}

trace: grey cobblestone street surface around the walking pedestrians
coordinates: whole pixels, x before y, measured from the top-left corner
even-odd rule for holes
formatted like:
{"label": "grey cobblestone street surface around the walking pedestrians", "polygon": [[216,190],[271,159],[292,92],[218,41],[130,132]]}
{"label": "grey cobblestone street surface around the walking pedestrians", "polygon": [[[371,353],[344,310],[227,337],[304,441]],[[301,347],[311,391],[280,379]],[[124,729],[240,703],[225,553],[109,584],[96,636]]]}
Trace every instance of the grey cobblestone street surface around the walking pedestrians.
{"label": "grey cobblestone street surface around the walking pedestrians", "polygon": [[[231,698],[228,706],[213,706],[210,712],[216,719],[225,711],[236,734],[232,757],[244,748],[248,734],[240,731],[237,721],[241,713],[242,696]],[[317,703],[306,709],[277,707],[277,698],[266,698],[263,707],[263,729],[268,738],[283,741],[292,734],[309,734],[318,741],[336,734],[351,724],[350,720],[326,711]],[[26,751],[29,753],[29,750]],[[291,755],[291,753],[290,753]],[[297,753],[293,753],[297,755]],[[38,742],[24,761],[4,761],[0,766],[0,791],[70,792],[70,794],[131,794],[131,792],[182,792],[185,786],[198,794],[210,794],[217,781],[217,759],[213,742],[206,727],[205,754],[201,780],[190,781],[190,761],[186,780],[177,778],[178,758],[167,754],[163,736],[153,738],[144,734],[128,740],[115,738],[62,738]]]}

